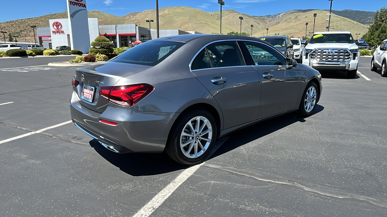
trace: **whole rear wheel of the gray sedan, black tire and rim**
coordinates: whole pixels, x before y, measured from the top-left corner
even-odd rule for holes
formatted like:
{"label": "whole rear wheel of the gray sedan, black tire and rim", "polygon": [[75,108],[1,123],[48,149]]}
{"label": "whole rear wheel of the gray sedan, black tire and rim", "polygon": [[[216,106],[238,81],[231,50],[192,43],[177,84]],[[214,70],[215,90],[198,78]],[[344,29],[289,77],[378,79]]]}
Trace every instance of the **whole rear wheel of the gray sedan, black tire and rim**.
{"label": "whole rear wheel of the gray sedan, black tire and rim", "polygon": [[[199,126],[197,126],[198,118]],[[214,117],[206,110],[197,108],[190,110],[176,121],[170,131],[165,147],[166,153],[181,164],[200,163],[209,155],[217,138]]]}

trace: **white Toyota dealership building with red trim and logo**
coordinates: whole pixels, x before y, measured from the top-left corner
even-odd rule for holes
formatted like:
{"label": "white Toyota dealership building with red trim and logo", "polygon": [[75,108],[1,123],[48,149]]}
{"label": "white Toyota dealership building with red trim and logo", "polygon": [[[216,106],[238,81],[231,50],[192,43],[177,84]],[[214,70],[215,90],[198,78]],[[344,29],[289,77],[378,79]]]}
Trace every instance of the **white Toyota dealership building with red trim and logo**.
{"label": "white Toyota dealership building with red trim and logo", "polygon": [[[115,47],[128,47],[131,42],[144,39],[155,39],[157,32],[154,29],[140,27],[136,24],[99,25],[98,18],[88,18],[90,42],[97,36],[105,36],[113,41]],[[199,32],[185,32],[178,29],[159,30],[160,37],[200,34]],[[52,19],[50,27],[37,28],[38,43],[43,47],[53,48],[57,46],[69,46],[70,30],[69,19]],[[149,36],[150,35],[150,36]],[[118,43],[117,43],[118,42]],[[74,49],[73,47],[71,47]]]}

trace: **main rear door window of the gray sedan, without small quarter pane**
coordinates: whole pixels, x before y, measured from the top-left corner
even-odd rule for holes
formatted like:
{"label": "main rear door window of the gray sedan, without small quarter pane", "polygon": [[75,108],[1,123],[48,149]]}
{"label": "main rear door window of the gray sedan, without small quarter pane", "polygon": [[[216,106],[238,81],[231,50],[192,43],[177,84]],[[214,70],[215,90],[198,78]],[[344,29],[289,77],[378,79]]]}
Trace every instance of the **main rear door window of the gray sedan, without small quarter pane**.
{"label": "main rear door window of the gray sedan, without small quarter pane", "polygon": [[224,41],[206,47],[212,67],[244,66],[241,51],[235,41]]}

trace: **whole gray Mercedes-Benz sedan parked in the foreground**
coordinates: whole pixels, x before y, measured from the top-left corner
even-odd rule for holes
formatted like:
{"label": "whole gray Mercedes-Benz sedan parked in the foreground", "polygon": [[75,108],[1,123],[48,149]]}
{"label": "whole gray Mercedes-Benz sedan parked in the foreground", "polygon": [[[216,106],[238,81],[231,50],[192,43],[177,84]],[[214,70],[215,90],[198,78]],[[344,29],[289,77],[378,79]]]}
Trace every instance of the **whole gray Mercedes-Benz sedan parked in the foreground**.
{"label": "whole gray Mercedes-Benz sedan parked in the foreground", "polygon": [[217,138],[242,127],[312,115],[322,91],[318,71],[267,42],[204,34],[140,44],[77,69],[72,85],[72,121],[104,147],[165,150],[182,164],[203,161]]}

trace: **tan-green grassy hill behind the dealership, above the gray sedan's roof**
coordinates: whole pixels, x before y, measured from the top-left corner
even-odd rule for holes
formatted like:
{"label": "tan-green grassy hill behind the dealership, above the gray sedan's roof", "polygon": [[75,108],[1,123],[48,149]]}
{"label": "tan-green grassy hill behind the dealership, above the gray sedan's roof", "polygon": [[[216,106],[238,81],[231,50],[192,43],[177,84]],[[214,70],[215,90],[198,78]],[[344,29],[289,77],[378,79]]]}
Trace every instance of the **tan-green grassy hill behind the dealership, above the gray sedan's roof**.
{"label": "tan-green grassy hill behind the dealership, above the gray sedan's roof", "polygon": [[[183,31],[197,31],[205,34],[219,32],[219,20],[211,14],[191,7],[165,7],[159,9],[160,29],[180,29]],[[127,24],[137,24],[149,28],[146,20],[156,21],[155,10],[145,10],[134,17],[128,17]],[[156,29],[156,23],[151,24]],[[222,26],[222,32],[236,31],[226,25]]]}

